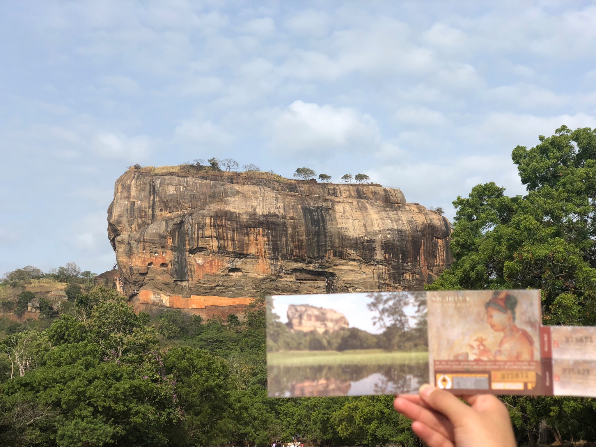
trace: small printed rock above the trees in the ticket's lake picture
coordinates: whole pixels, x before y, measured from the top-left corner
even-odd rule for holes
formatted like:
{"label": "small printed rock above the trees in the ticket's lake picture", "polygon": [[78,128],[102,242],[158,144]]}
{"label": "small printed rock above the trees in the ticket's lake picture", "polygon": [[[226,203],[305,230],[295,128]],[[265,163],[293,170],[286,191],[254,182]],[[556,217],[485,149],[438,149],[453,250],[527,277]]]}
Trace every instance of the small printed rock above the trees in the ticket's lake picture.
{"label": "small printed rock above the trees in the ticket's lake picture", "polygon": [[307,304],[291,304],[288,306],[287,327],[291,331],[311,332],[319,334],[325,331],[337,332],[349,327],[347,318],[334,309],[317,308]]}

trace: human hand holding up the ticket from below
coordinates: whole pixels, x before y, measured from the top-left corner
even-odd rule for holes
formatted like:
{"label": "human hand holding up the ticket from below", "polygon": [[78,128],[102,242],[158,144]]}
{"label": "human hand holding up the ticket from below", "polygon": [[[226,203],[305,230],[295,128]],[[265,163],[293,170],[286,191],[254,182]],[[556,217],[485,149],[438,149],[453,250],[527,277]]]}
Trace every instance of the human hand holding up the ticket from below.
{"label": "human hand holding up the ticket from below", "polygon": [[495,396],[462,396],[461,402],[429,384],[419,395],[399,395],[393,406],[412,420],[412,430],[429,447],[516,447],[509,412]]}

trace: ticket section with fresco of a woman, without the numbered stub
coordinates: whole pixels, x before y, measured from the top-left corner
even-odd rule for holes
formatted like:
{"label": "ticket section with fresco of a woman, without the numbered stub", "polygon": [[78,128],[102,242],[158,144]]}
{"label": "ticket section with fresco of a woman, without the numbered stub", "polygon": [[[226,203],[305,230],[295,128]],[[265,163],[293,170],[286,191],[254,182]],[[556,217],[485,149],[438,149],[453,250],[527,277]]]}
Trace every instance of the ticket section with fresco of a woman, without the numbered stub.
{"label": "ticket section with fresco of a woman, without the numbered stub", "polygon": [[539,395],[538,290],[428,292],[430,375],[457,392]]}

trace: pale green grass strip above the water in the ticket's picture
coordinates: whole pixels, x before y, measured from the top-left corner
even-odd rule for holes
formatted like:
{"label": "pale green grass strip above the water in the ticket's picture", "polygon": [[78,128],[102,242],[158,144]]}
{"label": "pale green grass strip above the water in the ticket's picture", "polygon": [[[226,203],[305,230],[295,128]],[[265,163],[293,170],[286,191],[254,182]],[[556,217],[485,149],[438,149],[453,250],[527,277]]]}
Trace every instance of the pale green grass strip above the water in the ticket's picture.
{"label": "pale green grass strip above the water in the ticket's picture", "polygon": [[429,361],[428,352],[400,352],[383,349],[345,351],[279,351],[267,354],[267,363],[278,366],[309,365],[411,365]]}

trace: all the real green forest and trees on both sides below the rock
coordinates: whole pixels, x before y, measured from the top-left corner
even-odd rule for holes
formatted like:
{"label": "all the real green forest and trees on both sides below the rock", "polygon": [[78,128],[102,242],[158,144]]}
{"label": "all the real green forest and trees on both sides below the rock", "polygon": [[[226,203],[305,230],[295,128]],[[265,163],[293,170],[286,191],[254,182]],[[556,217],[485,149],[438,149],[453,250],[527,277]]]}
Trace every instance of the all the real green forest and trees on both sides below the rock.
{"label": "all the real green forest and trees on both sides below the rock", "polygon": [[[427,289],[538,288],[544,324],[595,325],[596,132],[562,126],[512,159],[527,194],[489,182],[457,197],[454,263]],[[0,319],[2,445],[262,446],[300,436],[421,446],[393,396],[266,398],[263,299],[240,319],[151,319],[92,287],[88,272],[19,270],[0,286],[3,315],[18,315],[41,281],[66,283],[68,300],[40,300],[35,321]],[[305,337],[308,349],[330,343]],[[595,399],[503,399],[520,443],[596,440]]]}

